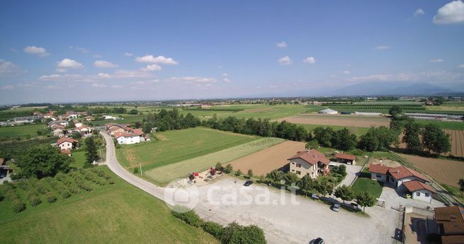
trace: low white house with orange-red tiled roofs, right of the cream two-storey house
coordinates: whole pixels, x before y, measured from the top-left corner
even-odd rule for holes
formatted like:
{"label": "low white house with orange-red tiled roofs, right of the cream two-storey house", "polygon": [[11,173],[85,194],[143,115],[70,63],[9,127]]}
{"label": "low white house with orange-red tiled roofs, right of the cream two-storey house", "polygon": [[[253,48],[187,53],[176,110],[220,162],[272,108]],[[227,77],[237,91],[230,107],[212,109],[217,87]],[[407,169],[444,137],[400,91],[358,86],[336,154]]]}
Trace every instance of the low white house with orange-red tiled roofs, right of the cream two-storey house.
{"label": "low white house with orange-red tiled roofs, right of the cream two-storey house", "polygon": [[397,192],[409,192],[412,199],[431,202],[432,193],[436,193],[424,175],[404,166],[395,168],[381,164],[369,165],[370,178],[392,185]]}

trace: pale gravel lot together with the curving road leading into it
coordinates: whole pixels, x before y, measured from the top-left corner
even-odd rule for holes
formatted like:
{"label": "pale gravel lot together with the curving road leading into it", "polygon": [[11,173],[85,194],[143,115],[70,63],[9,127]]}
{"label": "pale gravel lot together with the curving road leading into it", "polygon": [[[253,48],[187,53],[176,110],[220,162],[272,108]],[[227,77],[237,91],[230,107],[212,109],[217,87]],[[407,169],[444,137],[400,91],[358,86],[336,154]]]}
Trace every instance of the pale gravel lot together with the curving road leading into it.
{"label": "pale gravel lot together with the curving road leading into it", "polygon": [[[164,187],[137,178],[119,165],[113,139],[103,132],[101,135],[106,140],[106,164],[113,173],[154,197],[174,204],[164,199]],[[222,225],[232,221],[255,224],[264,229],[268,243],[308,243],[317,237],[332,244],[393,243],[392,236],[401,225],[400,214],[392,209],[368,208],[369,217],[344,209],[337,213],[327,204],[261,185],[244,187],[243,183],[243,180],[224,175],[209,185],[196,187],[199,199],[194,210],[203,219]]]}

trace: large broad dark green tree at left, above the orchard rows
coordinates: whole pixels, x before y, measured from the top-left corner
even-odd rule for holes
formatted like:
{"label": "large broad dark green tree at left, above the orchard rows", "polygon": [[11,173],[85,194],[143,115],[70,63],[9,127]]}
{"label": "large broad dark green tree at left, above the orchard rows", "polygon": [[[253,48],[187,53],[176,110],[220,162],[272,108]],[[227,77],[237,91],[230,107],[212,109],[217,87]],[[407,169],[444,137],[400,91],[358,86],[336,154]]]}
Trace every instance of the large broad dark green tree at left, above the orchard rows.
{"label": "large broad dark green tree at left, above the orchard rows", "polygon": [[45,146],[26,151],[16,164],[20,168],[18,175],[40,179],[55,176],[58,172],[67,173],[72,161],[74,161],[73,158],[61,153],[57,147]]}

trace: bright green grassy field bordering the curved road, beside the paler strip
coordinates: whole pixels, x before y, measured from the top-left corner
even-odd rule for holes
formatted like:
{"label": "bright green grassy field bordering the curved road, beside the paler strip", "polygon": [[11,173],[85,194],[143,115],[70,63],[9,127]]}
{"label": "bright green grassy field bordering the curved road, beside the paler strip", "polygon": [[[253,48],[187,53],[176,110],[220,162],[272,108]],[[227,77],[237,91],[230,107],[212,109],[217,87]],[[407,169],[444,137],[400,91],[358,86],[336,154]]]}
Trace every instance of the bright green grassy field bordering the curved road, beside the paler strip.
{"label": "bright green grassy field bordering the curved road, beside the paler strip", "polygon": [[157,139],[152,141],[123,145],[117,150],[120,163],[126,168],[135,168],[141,163],[145,171],[259,139],[201,127],[158,132],[154,136]]}

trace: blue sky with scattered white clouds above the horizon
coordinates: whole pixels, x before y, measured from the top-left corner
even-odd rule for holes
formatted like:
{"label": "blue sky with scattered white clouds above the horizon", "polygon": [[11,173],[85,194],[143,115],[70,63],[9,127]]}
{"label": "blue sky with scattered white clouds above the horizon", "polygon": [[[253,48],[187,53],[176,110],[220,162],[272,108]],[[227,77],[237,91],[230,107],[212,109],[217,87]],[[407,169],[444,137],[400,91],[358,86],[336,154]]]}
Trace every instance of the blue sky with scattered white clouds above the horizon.
{"label": "blue sky with scattered white clouds above the horizon", "polygon": [[464,90],[463,1],[0,1],[0,104],[378,82]]}

